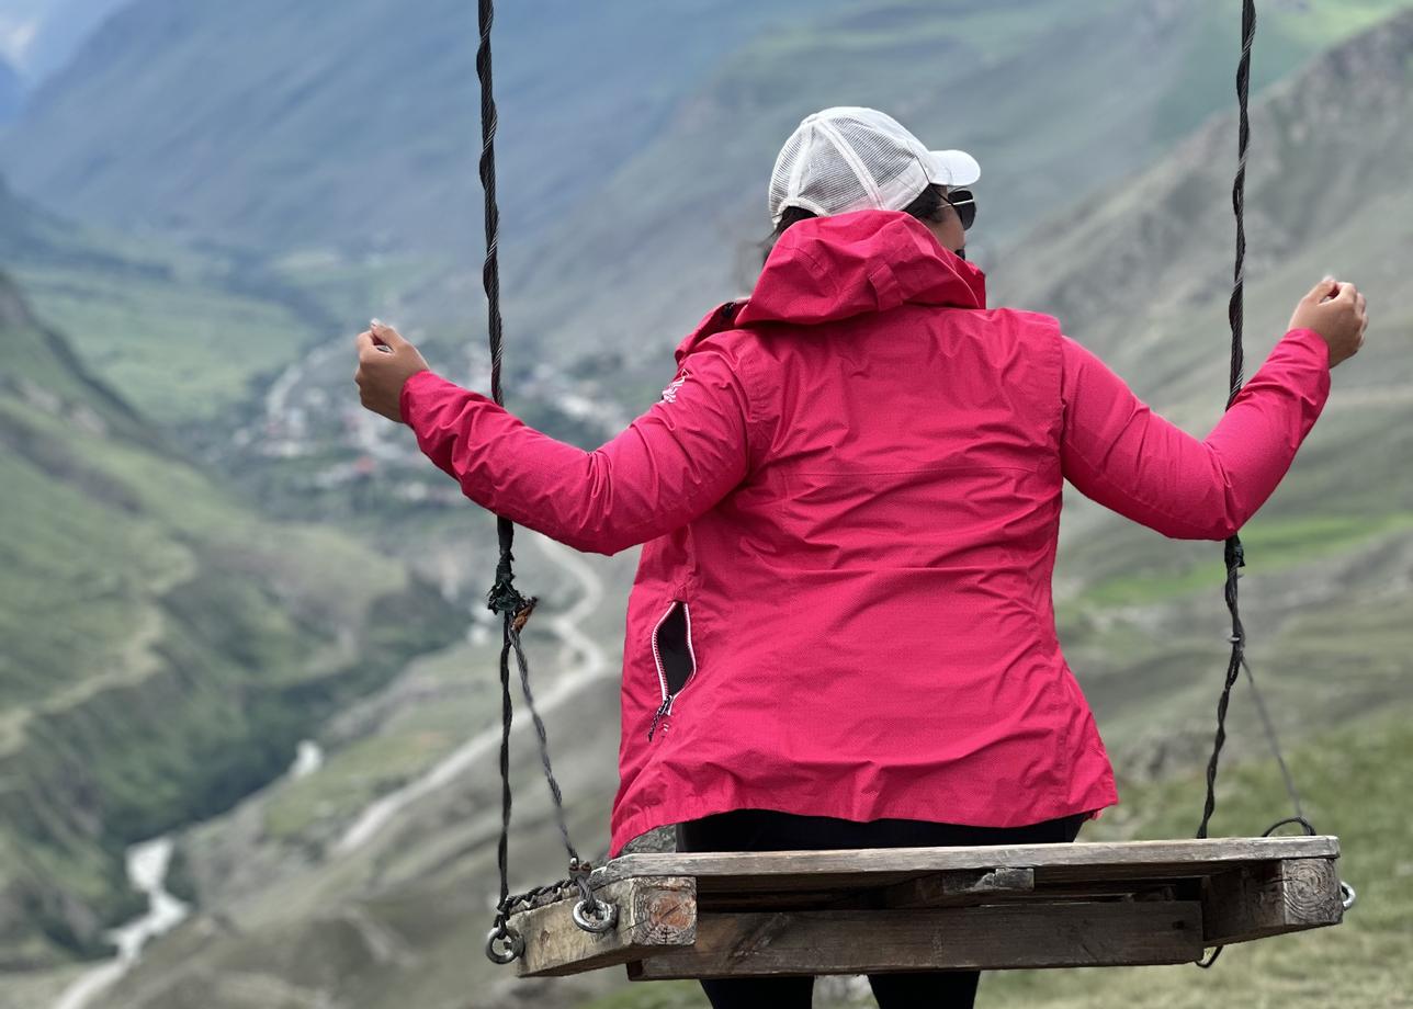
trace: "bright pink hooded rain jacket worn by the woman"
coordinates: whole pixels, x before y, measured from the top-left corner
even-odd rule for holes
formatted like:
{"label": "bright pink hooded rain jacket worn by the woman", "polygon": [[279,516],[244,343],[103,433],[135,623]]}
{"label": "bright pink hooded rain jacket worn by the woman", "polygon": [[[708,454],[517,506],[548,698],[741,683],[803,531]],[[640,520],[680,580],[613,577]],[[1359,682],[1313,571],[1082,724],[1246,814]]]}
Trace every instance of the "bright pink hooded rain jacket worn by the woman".
{"label": "bright pink hooded rain jacket worn by the woman", "polygon": [[794,225],[677,365],[592,452],[431,372],[401,401],[476,503],[584,551],[644,544],[615,854],[736,808],[1015,827],[1116,803],[1056,637],[1064,480],[1225,538],[1330,389],[1324,341],[1291,331],[1198,441],[887,211]]}

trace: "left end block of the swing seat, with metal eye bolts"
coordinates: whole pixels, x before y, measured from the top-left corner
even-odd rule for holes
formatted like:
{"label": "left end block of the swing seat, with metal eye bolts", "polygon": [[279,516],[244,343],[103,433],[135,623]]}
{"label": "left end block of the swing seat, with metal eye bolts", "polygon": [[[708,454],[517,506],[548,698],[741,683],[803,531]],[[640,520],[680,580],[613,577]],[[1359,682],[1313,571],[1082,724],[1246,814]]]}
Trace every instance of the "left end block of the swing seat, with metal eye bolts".
{"label": "left end block of the swing seat, with metal eye bolts", "polygon": [[660,950],[690,947],[697,938],[692,879],[625,879],[596,887],[595,893],[617,906],[612,931],[591,933],[574,923],[578,895],[510,917],[526,940],[524,957],[516,961],[520,976],[560,976],[626,964]]}

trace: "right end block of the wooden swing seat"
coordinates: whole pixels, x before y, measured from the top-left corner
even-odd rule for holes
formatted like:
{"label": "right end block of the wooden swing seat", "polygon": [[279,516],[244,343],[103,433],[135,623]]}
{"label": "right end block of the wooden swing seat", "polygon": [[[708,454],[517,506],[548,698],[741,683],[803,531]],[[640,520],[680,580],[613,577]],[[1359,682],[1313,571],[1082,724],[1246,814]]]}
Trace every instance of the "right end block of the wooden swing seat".
{"label": "right end block of the wooden swing seat", "polygon": [[1202,934],[1208,945],[1318,928],[1342,919],[1335,859],[1242,866],[1210,878],[1202,887]]}

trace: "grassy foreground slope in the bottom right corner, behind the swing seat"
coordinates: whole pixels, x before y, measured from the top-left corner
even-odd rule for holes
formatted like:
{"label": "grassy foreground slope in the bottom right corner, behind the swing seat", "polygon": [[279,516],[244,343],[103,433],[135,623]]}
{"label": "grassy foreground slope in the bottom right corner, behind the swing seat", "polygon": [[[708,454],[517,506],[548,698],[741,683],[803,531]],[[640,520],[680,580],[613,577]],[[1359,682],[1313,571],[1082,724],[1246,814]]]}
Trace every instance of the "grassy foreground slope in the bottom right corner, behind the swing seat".
{"label": "grassy foreground slope in the bottom right corner, behind the swing seat", "polygon": [[[1413,862],[1403,835],[1406,796],[1413,786],[1410,716],[1413,708],[1400,704],[1338,732],[1317,731],[1290,740],[1297,748],[1291,772],[1308,803],[1307,815],[1320,831],[1340,835],[1340,872],[1359,895],[1341,926],[1234,945],[1212,971],[1171,967],[998,976],[988,982],[986,1005],[1409,1005],[1413,972],[1406,923],[1413,914]],[[1108,827],[1099,821],[1085,834],[1091,839],[1188,835],[1201,813],[1202,787],[1195,772],[1130,787],[1128,815]],[[1273,762],[1229,766],[1218,780],[1215,822],[1222,832],[1259,834],[1287,815],[1283,796]]]}

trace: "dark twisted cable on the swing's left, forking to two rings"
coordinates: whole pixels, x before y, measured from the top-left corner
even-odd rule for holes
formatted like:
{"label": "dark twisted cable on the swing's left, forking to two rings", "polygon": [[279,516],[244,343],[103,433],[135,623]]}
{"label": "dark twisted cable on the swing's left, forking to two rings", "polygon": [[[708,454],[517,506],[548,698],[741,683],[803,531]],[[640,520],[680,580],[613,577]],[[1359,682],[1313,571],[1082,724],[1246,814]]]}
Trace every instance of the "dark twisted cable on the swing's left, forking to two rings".
{"label": "dark twisted cable on the swing's left, forking to two rings", "polygon": [[[490,397],[497,406],[504,406],[504,393],[500,384],[502,359],[504,358],[504,332],[500,317],[500,211],[496,203],[496,99],[492,86],[490,72],[490,25],[495,21],[495,4],[492,0],[480,0],[480,45],[476,49],[476,76],[480,81],[480,185],[485,191],[485,223],[486,223],[486,261],[482,267],[480,278],[486,290],[486,305],[489,312],[487,332],[490,336]],[[564,796],[560,783],[554,777],[550,765],[550,739],[544,728],[544,719],[534,704],[534,694],[530,690],[530,663],[526,660],[520,642],[520,630],[534,612],[537,599],[526,599],[514,586],[513,561],[514,554],[514,523],[504,516],[496,516],[496,536],[500,544],[500,560],[496,564],[496,581],[486,594],[486,605],[502,618],[502,646],[500,646],[500,841],[496,845],[496,866],[500,872],[500,899],[496,902],[496,919],[486,936],[486,955],[497,964],[524,955],[524,937],[510,927],[510,914],[527,906],[536,897],[545,893],[560,893],[561,890],[577,887],[579,903],[574,907],[575,923],[586,931],[608,931],[617,919],[617,909],[608,902],[598,900],[589,887],[591,868],[579,859],[578,851],[569,838],[569,825],[564,814]],[[534,722],[536,738],[540,748],[540,763],[544,767],[544,779],[550,786],[550,797],[554,806],[554,820],[560,827],[560,837],[564,849],[569,856],[569,878],[551,886],[538,886],[526,893],[510,893],[510,729],[514,716],[514,705],[510,697],[510,653],[514,651],[516,666],[520,671],[520,691],[524,694],[526,708]]]}

